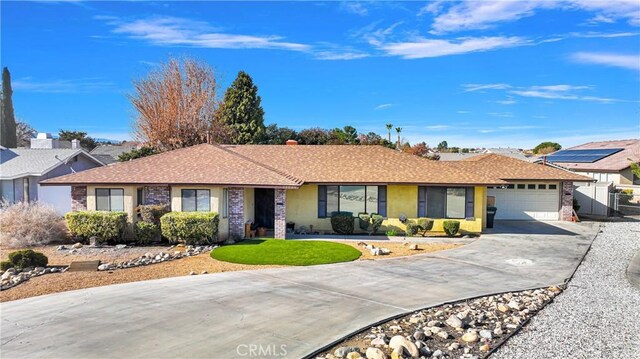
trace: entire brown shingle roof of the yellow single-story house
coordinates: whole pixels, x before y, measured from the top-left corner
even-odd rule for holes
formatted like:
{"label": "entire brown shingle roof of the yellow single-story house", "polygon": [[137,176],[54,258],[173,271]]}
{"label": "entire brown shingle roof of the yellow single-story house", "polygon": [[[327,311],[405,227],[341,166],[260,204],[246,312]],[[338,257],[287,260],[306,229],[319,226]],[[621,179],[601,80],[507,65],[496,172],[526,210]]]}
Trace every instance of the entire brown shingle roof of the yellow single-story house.
{"label": "entire brown shingle roof of the yellow single-story house", "polygon": [[569,171],[495,154],[447,162],[382,146],[202,144],[42,183],[297,188],[303,183],[501,185],[513,179],[589,180]]}

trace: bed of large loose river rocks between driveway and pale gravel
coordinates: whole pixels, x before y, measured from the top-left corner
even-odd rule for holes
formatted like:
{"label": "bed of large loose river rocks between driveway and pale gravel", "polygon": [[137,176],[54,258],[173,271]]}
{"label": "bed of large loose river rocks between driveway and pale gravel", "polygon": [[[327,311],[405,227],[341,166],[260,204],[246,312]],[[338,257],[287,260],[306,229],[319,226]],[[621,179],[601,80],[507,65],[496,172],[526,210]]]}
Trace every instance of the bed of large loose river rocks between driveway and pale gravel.
{"label": "bed of large loose river rocks between driveway and pale gravel", "polygon": [[505,293],[417,311],[357,334],[317,358],[484,358],[561,291]]}

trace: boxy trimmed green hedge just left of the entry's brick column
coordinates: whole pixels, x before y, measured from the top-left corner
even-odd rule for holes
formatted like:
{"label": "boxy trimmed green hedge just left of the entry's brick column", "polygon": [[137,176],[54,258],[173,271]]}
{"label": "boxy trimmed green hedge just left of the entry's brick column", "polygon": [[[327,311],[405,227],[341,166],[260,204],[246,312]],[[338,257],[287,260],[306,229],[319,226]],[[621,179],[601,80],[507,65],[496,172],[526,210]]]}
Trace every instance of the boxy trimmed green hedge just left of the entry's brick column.
{"label": "boxy trimmed green hedge just left of the entry's brick column", "polygon": [[218,240],[219,222],[216,212],[169,212],[160,218],[160,228],[171,243],[202,245]]}

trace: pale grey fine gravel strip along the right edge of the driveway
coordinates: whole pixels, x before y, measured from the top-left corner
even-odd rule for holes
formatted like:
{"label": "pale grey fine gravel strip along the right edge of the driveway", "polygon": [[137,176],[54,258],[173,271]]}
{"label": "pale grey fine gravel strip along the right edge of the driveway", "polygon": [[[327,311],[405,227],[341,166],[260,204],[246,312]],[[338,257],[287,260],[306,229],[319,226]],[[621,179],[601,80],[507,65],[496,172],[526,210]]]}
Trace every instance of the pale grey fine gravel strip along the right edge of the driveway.
{"label": "pale grey fine gravel strip along the right edge of the driveway", "polygon": [[562,295],[491,358],[640,358],[640,290],[625,272],[640,222],[610,222]]}

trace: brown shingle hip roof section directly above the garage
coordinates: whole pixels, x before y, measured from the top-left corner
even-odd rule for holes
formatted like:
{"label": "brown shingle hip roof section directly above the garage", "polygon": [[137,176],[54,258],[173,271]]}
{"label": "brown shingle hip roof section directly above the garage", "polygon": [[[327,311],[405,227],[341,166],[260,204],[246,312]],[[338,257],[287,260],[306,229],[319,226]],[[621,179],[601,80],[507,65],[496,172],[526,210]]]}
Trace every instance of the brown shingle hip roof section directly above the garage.
{"label": "brown shingle hip roof section directly above the garage", "polygon": [[493,176],[505,181],[510,180],[554,180],[554,181],[593,181],[593,178],[571,171],[522,161],[516,158],[493,153],[475,156],[462,161],[449,162],[451,165],[474,173]]}

